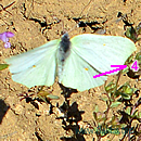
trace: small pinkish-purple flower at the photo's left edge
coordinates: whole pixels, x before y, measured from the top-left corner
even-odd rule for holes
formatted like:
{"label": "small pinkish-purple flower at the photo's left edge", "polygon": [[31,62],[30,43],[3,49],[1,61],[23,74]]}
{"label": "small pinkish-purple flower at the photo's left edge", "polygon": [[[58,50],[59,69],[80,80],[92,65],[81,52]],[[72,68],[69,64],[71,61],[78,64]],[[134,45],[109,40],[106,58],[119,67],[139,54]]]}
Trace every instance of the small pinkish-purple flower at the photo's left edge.
{"label": "small pinkish-purple flower at the photo's left edge", "polygon": [[4,43],[4,48],[10,48],[11,43],[9,42],[9,38],[13,37],[14,34],[11,31],[4,31],[2,34],[0,34],[0,39],[5,42]]}

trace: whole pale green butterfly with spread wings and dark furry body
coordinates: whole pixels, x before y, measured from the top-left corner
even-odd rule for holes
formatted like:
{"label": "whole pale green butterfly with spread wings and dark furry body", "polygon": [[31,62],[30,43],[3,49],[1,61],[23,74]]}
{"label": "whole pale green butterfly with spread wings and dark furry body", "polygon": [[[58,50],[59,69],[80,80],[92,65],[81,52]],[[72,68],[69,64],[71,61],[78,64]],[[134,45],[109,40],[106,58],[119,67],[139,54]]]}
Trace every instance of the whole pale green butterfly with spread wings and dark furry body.
{"label": "whole pale green butterfly with spread wings and dark furry body", "polygon": [[111,70],[111,65],[124,65],[133,51],[134,43],[124,37],[84,34],[69,40],[64,34],[5,62],[13,80],[28,88],[52,86],[57,76],[63,86],[84,91],[103,85],[106,76],[93,76]]}

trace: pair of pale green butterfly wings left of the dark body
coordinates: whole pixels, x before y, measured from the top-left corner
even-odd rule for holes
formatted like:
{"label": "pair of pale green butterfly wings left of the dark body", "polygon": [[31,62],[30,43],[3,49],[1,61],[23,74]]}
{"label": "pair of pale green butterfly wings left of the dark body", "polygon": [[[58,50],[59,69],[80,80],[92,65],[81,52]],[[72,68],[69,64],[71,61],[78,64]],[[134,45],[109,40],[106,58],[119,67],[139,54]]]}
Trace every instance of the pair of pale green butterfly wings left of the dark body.
{"label": "pair of pale green butterfly wings left of the dark body", "polygon": [[60,40],[52,40],[28,52],[7,59],[12,79],[28,88],[51,86],[55,79],[55,54]]}

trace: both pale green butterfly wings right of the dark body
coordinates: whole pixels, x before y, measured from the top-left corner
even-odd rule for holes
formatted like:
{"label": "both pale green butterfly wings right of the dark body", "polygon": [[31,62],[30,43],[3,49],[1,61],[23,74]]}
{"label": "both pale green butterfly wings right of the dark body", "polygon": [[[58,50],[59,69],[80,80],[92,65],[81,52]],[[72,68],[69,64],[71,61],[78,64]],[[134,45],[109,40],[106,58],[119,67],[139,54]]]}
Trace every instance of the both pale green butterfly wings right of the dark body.
{"label": "both pale green butterfly wings right of the dark body", "polygon": [[123,37],[85,34],[70,42],[70,54],[59,82],[79,91],[103,85],[106,76],[93,76],[112,70],[111,65],[123,65],[136,50],[134,43]]}

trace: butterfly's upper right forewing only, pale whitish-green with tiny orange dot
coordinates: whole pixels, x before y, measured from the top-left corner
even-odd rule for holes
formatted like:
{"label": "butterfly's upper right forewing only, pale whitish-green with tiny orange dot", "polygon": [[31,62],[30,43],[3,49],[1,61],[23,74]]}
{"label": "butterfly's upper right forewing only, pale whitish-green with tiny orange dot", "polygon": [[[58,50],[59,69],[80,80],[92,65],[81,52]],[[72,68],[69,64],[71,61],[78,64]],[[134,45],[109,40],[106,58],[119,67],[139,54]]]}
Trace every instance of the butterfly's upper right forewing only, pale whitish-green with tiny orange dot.
{"label": "butterfly's upper right forewing only, pale whitish-green with tiny orange dot", "polygon": [[113,69],[111,65],[124,65],[136,51],[131,40],[118,36],[84,34],[72,38],[72,46],[79,56],[101,73]]}

